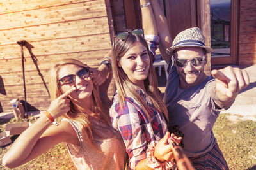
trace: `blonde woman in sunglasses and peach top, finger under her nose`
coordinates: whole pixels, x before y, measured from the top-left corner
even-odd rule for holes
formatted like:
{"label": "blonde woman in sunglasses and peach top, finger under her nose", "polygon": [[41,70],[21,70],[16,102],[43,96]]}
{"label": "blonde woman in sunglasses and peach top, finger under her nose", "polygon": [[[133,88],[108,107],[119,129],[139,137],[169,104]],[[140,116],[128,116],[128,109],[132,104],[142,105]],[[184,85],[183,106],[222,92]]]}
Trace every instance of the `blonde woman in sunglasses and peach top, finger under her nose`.
{"label": "blonde woman in sunglasses and peach top, finger under her nose", "polygon": [[[108,100],[100,99],[90,74],[90,67],[74,59],[51,69],[51,106],[16,139],[4,166],[20,166],[65,142],[77,169],[125,168],[124,142],[111,127]],[[61,116],[58,126],[51,125]]]}

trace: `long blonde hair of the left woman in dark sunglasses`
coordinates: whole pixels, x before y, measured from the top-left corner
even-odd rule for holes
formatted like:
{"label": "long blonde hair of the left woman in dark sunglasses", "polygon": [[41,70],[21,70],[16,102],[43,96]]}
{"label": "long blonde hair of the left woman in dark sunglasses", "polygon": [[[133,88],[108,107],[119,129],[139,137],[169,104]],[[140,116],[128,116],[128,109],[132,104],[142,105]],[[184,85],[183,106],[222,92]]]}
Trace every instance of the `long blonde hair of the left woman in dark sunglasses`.
{"label": "long blonde hair of the left woman in dark sunglasses", "polygon": [[[64,59],[61,60],[58,64],[53,66],[50,71],[50,81],[49,81],[49,90],[50,90],[50,96],[51,101],[58,98],[61,95],[61,90],[58,87],[58,74],[61,69],[61,67],[73,64],[80,67],[87,67],[86,64],[83,64],[79,60],[75,59]],[[99,115],[99,118],[101,120],[105,120],[102,122],[107,122],[108,125],[111,124],[110,118],[109,118],[109,106],[110,103],[108,101],[102,101],[99,96],[99,88],[96,86],[93,86],[92,91],[92,99],[93,99],[93,106],[92,111],[96,115]],[[102,103],[104,102],[104,104]],[[70,111],[65,113],[63,115],[64,118],[67,118],[69,120],[74,120],[76,122],[79,122],[81,125],[81,132],[83,139],[87,141],[89,144],[93,145],[93,135],[92,135],[92,124],[89,120],[89,116],[87,113],[81,113],[81,111],[76,110],[74,106],[74,103],[70,101]]]}

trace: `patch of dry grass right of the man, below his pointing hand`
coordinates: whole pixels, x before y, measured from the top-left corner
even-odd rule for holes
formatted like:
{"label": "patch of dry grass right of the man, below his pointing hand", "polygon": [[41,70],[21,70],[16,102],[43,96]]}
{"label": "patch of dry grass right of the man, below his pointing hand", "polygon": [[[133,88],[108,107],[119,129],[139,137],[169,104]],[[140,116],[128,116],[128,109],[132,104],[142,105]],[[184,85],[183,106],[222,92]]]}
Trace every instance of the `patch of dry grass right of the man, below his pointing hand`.
{"label": "patch of dry grass right of the man, below his pointing hand", "polygon": [[213,132],[230,169],[256,169],[256,122],[231,122],[221,114]]}

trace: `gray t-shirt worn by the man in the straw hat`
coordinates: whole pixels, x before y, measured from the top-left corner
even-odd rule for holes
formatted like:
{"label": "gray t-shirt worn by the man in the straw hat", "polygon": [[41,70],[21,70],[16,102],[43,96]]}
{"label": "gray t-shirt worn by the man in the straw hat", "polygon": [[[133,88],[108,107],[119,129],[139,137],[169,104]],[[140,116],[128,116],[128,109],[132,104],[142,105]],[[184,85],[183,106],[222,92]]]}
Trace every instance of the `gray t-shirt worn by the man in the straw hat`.
{"label": "gray t-shirt worn by the man in the straw hat", "polygon": [[188,157],[207,153],[216,144],[212,127],[222,111],[216,108],[210,96],[215,85],[214,78],[209,77],[199,85],[180,89],[179,74],[172,61],[170,66],[164,94],[170,121],[168,125],[179,125],[184,134],[184,152]]}

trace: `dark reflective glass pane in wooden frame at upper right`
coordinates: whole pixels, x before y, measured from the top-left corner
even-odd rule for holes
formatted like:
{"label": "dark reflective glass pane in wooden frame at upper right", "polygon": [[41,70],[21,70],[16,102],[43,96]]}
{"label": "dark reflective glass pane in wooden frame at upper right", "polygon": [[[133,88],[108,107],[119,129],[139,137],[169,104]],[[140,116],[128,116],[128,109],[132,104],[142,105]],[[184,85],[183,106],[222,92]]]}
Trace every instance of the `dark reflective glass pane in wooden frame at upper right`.
{"label": "dark reflective glass pane in wooden frame at upper right", "polygon": [[211,57],[230,57],[231,0],[210,0]]}

